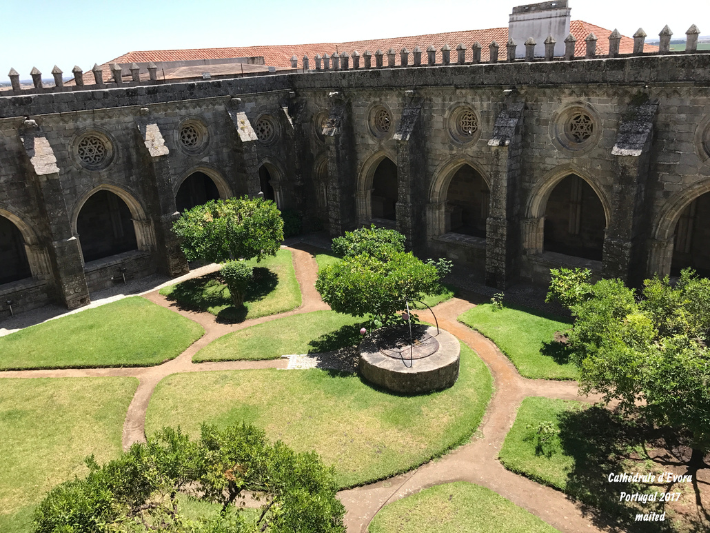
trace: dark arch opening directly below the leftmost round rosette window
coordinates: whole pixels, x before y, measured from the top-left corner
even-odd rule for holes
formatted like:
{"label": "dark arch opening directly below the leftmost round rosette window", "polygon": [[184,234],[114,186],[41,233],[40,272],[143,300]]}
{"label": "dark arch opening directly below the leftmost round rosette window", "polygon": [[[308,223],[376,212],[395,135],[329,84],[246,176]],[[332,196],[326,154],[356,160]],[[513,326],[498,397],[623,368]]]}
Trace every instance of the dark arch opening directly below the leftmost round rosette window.
{"label": "dark arch opening directly below the leftmost round rosette window", "polygon": [[129,206],[108,190],[99,190],[84,203],[77,232],[84,262],[138,248]]}

